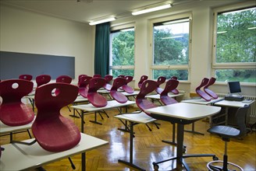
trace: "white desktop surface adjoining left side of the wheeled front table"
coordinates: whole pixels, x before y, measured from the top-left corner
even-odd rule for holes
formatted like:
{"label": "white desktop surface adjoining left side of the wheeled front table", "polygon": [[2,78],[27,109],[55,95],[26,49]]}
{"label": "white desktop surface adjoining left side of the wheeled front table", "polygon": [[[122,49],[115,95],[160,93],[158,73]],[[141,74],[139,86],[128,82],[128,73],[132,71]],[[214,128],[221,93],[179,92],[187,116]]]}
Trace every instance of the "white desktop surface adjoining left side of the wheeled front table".
{"label": "white desktop surface adjoining left side of the wheeled front table", "polygon": [[148,123],[154,122],[156,120],[156,119],[148,116],[148,114],[146,114],[144,112],[119,114],[119,115],[116,115],[115,117],[122,119],[122,120],[129,120],[131,122],[136,122],[136,123],[140,123],[140,124],[148,124]]}

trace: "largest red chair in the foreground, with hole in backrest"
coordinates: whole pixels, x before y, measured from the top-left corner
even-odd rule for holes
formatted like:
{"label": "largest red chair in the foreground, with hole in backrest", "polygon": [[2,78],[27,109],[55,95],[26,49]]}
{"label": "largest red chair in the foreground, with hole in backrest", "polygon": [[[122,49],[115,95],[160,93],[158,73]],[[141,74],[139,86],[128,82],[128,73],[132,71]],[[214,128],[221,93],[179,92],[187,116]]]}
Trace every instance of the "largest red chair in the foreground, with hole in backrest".
{"label": "largest red chair in the foreground, with hole in backrest", "polygon": [[[55,89],[59,89],[58,95],[52,94]],[[77,93],[77,86],[61,82],[37,88],[34,96],[37,117],[31,130],[38,144],[45,150],[62,152],[80,142],[80,130],[76,124],[60,113],[63,106],[73,103]]]}

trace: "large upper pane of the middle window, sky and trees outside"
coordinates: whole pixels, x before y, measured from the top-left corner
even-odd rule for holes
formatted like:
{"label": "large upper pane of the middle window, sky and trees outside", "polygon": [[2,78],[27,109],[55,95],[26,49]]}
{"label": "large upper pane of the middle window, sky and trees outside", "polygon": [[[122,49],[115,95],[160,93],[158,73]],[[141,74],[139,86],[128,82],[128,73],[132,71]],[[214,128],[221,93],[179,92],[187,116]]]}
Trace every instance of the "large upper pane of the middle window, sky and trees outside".
{"label": "large upper pane of the middle window, sky and trees outside", "polygon": [[154,26],[153,65],[188,64],[189,28],[189,19]]}

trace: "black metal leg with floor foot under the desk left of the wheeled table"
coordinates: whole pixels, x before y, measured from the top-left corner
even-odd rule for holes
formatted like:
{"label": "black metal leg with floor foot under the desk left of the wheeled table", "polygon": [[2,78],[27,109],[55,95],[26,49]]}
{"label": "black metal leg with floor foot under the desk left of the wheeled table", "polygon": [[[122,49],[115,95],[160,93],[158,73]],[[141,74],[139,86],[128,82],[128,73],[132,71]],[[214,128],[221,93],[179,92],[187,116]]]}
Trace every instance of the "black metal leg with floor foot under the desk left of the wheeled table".
{"label": "black metal leg with floor foot under the desk left of the wheeled table", "polygon": [[132,166],[135,169],[139,169],[141,171],[144,171],[145,169],[140,168],[139,166],[136,166],[133,164],[133,125],[136,123],[130,122],[130,162],[126,162],[122,159],[119,159],[118,162],[123,162],[124,164],[128,166]]}

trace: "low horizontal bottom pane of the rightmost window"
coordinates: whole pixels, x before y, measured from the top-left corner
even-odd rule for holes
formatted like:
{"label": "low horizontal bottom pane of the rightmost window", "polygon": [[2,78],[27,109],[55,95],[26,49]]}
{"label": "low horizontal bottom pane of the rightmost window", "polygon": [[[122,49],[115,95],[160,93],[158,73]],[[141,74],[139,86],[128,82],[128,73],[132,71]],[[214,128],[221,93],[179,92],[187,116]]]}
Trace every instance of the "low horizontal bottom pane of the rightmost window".
{"label": "low horizontal bottom pane of the rightmost window", "polygon": [[215,70],[217,81],[256,82],[255,69],[217,69]]}

